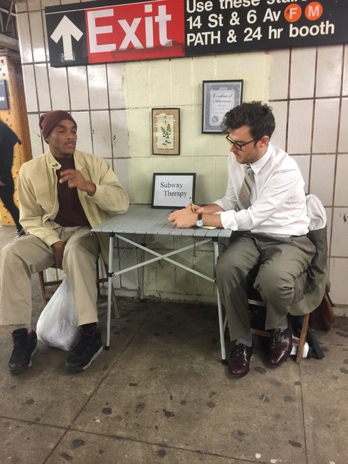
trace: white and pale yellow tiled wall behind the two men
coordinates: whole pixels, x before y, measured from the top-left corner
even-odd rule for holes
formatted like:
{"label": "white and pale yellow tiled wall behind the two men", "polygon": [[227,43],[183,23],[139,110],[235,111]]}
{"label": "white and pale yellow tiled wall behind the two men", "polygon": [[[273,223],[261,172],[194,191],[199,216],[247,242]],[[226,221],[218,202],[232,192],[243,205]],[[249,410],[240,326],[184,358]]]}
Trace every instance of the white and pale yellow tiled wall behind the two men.
{"label": "white and pale yellow tiled wall behind the two men", "polygon": [[[196,201],[211,202],[224,193],[228,146],[219,135],[201,133],[202,82],[243,79],[244,101],[270,102],[277,123],[273,143],[285,147],[296,159],[306,190],[324,202],[331,296],[336,304],[347,305],[348,47],[52,68],[44,8],[72,1],[77,0],[16,3],[33,156],[47,147],[38,129],[40,114],[64,109],[77,121],[79,149],[104,157],[132,202],[150,203],[152,173],[165,171],[196,172]],[[180,108],[179,156],[152,155],[151,109],[157,107]],[[122,266],[136,261],[134,249],[116,253],[122,256]],[[212,263],[212,253],[205,248],[196,257],[185,259],[205,269]],[[116,285],[129,294],[137,289],[137,279],[134,271],[123,275]],[[150,295],[215,301],[214,288],[205,281],[159,263],[147,271],[145,284]]]}

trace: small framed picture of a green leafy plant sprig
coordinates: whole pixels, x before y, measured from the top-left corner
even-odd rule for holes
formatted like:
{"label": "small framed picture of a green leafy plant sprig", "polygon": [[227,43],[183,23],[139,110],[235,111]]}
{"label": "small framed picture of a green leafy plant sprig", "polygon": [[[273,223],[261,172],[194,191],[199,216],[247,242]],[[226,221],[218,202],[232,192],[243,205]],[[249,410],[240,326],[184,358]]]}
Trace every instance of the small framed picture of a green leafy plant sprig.
{"label": "small framed picture of a green leafy plant sprig", "polygon": [[152,108],[152,154],[180,154],[179,108]]}

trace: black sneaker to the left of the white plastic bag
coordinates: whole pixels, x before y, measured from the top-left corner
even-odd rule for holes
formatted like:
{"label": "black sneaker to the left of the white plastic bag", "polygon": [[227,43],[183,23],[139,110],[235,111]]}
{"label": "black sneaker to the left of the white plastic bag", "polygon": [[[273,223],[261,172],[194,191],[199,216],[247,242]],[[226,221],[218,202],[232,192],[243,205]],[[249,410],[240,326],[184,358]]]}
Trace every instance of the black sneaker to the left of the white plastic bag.
{"label": "black sneaker to the left of the white plastic bag", "polygon": [[8,369],[12,374],[22,374],[31,367],[31,358],[36,353],[38,337],[33,330],[18,328],[12,333],[13,352],[8,361]]}

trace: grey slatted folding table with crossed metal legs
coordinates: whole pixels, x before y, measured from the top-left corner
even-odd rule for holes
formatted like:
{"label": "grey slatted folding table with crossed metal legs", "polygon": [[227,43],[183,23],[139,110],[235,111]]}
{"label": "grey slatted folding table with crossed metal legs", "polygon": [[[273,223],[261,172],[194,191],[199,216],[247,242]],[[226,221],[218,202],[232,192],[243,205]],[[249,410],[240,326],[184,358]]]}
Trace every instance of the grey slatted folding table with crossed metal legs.
{"label": "grey slatted folding table with crossed metal legs", "polygon": [[[131,205],[125,214],[120,214],[109,219],[105,223],[93,227],[93,232],[102,232],[109,234],[109,272],[108,272],[108,300],[107,300],[107,321],[106,321],[106,349],[110,346],[110,326],[111,326],[111,289],[112,289],[112,278],[113,276],[123,274],[132,269],[141,268],[152,262],[158,261],[159,259],[165,259],[167,262],[171,262],[175,266],[180,266],[188,272],[199,275],[201,278],[214,282],[214,278],[209,275],[205,275],[192,269],[188,266],[184,266],[179,262],[171,259],[171,256],[181,253],[182,251],[189,250],[193,247],[201,246],[204,243],[212,242],[214,244],[214,266],[219,256],[219,238],[230,237],[232,231],[225,229],[212,229],[207,230],[200,227],[189,227],[188,229],[179,229],[174,227],[172,223],[168,222],[168,215],[170,214],[169,209],[152,209],[148,205]],[[151,250],[148,246],[144,246],[141,243],[133,241],[125,235],[168,235],[175,237],[193,237],[193,243],[188,246],[184,246],[178,250],[172,250],[168,253],[157,253],[155,250]],[[154,255],[152,259],[143,260],[139,264],[129,266],[126,269],[120,271],[113,271],[113,242],[115,237],[130,243],[137,248],[143,250],[143,252]],[[144,242],[144,240],[143,240]],[[142,273],[143,275],[143,273]],[[143,299],[143,277],[140,279],[140,291],[141,299]],[[226,360],[225,340],[223,334],[223,313],[221,307],[221,301],[219,291],[216,289],[218,312],[219,312],[219,331],[220,331],[220,344],[221,344],[221,360]]]}

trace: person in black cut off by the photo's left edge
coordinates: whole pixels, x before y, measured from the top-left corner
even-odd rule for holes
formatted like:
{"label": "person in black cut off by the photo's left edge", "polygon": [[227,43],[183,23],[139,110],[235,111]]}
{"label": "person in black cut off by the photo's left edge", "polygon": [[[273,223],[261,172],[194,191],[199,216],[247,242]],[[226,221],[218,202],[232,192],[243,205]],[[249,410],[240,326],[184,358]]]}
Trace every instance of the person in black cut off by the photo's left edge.
{"label": "person in black cut off by the photo's left edge", "polygon": [[13,200],[15,184],[13,183],[11,168],[13,147],[16,143],[21,144],[17,134],[5,122],[0,120],[0,198],[17,227],[15,240],[25,234],[21,223],[19,223],[19,209]]}

